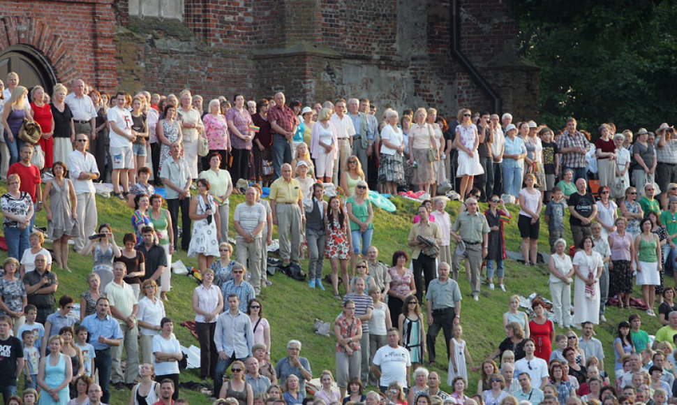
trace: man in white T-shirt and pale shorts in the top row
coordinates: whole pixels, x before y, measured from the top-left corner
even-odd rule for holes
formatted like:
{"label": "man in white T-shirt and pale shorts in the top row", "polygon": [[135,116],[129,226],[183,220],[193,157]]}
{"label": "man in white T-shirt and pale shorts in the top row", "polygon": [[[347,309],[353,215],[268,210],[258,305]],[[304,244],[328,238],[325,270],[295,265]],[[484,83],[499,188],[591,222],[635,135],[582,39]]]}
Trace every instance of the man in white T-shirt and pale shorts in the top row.
{"label": "man in white T-shirt and pale shorts in the top row", "polygon": [[[115,107],[108,110],[108,126],[110,126],[110,156],[113,161],[113,195],[126,200],[129,193],[129,170],[134,170],[132,141],[135,139],[132,130],[132,115],[125,108],[125,94],[118,91],[115,96]],[[120,194],[122,184],[123,194]]]}

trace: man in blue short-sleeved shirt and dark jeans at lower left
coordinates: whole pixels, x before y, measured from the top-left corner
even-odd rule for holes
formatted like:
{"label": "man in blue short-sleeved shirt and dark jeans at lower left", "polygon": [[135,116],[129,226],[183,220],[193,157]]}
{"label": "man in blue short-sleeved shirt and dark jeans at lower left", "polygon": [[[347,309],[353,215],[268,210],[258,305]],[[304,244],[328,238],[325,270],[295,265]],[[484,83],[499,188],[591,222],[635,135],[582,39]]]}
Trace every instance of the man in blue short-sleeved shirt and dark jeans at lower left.
{"label": "man in blue short-sleeved shirt and dark jeans at lower left", "polygon": [[[80,324],[87,327],[89,342],[91,346],[94,346],[96,353],[94,367],[98,370],[98,381],[101,382],[104,403],[108,403],[110,399],[110,390],[108,390],[112,366],[110,351],[112,347],[120,346],[123,338],[119,323],[108,315],[109,309],[108,298],[99,298],[96,300],[96,313],[85,316]],[[89,389],[91,390],[91,385]]]}

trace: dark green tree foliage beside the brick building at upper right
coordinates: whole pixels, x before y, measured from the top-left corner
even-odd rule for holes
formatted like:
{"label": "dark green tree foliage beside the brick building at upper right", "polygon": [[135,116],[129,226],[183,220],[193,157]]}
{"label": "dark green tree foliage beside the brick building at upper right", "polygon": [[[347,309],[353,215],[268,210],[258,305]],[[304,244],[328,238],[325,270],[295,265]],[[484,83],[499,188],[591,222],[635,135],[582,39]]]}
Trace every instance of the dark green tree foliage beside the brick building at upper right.
{"label": "dark green tree foliage beside the brick building at upper right", "polygon": [[595,129],[675,119],[674,1],[514,1],[526,57],[540,66],[540,119]]}

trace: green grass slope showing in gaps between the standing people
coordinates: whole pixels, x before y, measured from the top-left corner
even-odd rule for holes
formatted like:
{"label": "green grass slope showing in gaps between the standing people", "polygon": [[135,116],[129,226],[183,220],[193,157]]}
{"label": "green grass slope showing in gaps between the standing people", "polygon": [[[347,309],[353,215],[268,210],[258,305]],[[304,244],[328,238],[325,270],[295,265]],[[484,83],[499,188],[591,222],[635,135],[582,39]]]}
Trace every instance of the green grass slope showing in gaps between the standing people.
{"label": "green grass slope showing in gaps between the standing people", "polygon": [[[4,192],[4,191],[3,191]],[[243,196],[233,196],[230,200],[230,207],[235,209],[237,203],[244,201]],[[132,210],[124,202],[117,199],[105,199],[97,196],[98,219],[99,223],[111,223],[114,235],[117,241],[121,243],[124,233],[131,230],[130,218]],[[399,249],[410,251],[406,246],[406,239],[409,233],[412,216],[418,206],[416,202],[405,200],[403,198],[394,198],[394,204],[397,211],[388,213],[381,209],[375,209],[375,233],[373,244],[380,249],[380,260],[390,263],[392,253]],[[482,210],[486,205],[482,205]],[[509,207],[513,215],[513,220],[505,228],[505,237],[507,249],[519,251],[519,231],[517,230],[516,217],[519,208]],[[447,205],[447,211],[452,216],[452,221],[459,212],[459,202],[452,202]],[[232,219],[232,212],[230,218]],[[568,221],[565,221],[568,223]],[[38,226],[46,225],[44,211],[38,213]],[[567,226],[568,228],[568,226]],[[234,230],[231,226],[231,236],[234,236]],[[276,235],[274,234],[274,237]],[[567,233],[570,238],[570,234]],[[51,247],[47,244],[47,247]],[[539,250],[549,251],[548,233],[546,226],[541,226],[539,239]],[[6,257],[6,252],[0,253],[0,260]],[[174,261],[181,259],[189,266],[197,265],[197,260],[187,258],[185,252],[174,255]],[[68,294],[73,297],[79,297],[80,293],[87,290],[87,274],[91,272],[91,256],[84,257],[76,253],[70,253],[70,269],[72,273],[66,273],[57,270],[59,276],[59,291],[57,297]],[[304,260],[304,267],[307,260]],[[461,293],[463,293],[463,339],[468,343],[468,348],[473,356],[475,364],[481,362],[486,355],[493,352],[498,343],[505,338],[502,324],[502,314],[508,309],[508,298],[512,294],[519,294],[528,297],[531,293],[539,293],[546,298],[550,297],[548,286],[549,271],[546,265],[537,267],[525,267],[516,263],[514,260],[507,260],[506,266],[507,293],[500,290],[491,291],[486,287],[482,288],[479,302],[470,299],[470,286],[465,275],[461,275],[459,284]],[[329,263],[325,263],[325,274],[329,272]],[[307,283],[300,283],[285,277],[282,274],[276,274],[271,277],[273,285],[262,292],[260,297],[263,301],[263,314],[271,324],[271,358],[276,361],[286,355],[285,344],[289,339],[299,339],[303,343],[303,357],[308,358],[313,369],[313,376],[318,377],[323,369],[335,371],[334,364],[334,337],[323,337],[314,333],[313,320],[320,318],[323,321],[331,321],[341,311],[341,304],[332,295],[331,288],[326,291],[311,289]],[[670,277],[666,277],[666,285],[672,285]],[[165,304],[165,309],[173,321],[177,339],[183,346],[198,346],[195,339],[185,327],[179,326],[179,323],[192,320],[194,318],[191,309],[191,295],[193,288],[197,286],[195,279],[186,276],[177,276],[172,274],[172,291],[169,294],[170,302]],[[636,297],[641,297],[640,290],[635,289]],[[597,338],[604,344],[604,353],[607,355],[605,369],[613,376],[613,347],[611,342],[616,335],[616,326],[620,321],[627,320],[631,313],[643,311],[631,309],[620,311],[616,307],[607,310],[607,320],[609,323],[598,325]],[[656,318],[650,318],[644,314],[643,329],[650,334],[654,334],[660,327]],[[557,330],[557,333],[563,333],[564,330]],[[579,335],[579,331],[576,331]],[[440,332],[437,340],[438,353],[445,353],[443,335]],[[447,360],[444,355],[438,355],[438,366],[432,368],[440,373],[444,382],[443,390],[449,392],[446,385],[447,380]],[[475,392],[477,389],[477,378],[479,373],[469,373],[470,388],[469,392]],[[197,370],[188,370],[181,374],[181,381],[198,381],[199,373]],[[22,383],[20,384],[20,390]],[[128,404],[130,391],[111,390],[111,404]],[[181,397],[188,399],[191,404],[208,404],[209,400],[199,392],[189,392],[181,390]]]}

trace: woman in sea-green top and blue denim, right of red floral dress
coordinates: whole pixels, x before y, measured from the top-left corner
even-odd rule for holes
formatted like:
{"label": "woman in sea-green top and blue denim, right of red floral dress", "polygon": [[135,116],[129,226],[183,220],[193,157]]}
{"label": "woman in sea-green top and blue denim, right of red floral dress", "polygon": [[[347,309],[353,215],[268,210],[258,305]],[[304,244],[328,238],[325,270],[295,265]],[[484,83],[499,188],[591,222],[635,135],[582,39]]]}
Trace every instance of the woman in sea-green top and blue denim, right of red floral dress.
{"label": "woman in sea-green top and blue denim, right of red floral dress", "polygon": [[[357,159],[357,158],[356,158]],[[374,233],[374,212],[369,201],[369,191],[366,182],[359,180],[355,186],[355,195],[348,197],[345,202],[345,211],[350,219],[350,233],[352,235],[352,251],[350,256],[350,272],[355,271],[355,263],[359,256],[359,243],[362,242],[362,256],[366,257],[366,249],[371,246],[371,237]],[[351,276],[352,277],[352,274]]]}

